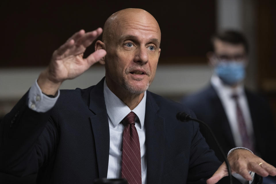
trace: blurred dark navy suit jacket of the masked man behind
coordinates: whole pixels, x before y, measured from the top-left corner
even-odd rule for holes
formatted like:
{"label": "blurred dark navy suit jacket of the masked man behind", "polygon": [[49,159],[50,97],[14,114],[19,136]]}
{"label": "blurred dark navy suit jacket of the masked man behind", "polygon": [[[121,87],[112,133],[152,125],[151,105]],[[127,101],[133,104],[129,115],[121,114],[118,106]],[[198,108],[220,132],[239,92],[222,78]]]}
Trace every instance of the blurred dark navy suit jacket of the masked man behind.
{"label": "blurred dark navy suit jacket of the masked man behind", "polygon": [[[260,96],[248,90],[245,90],[245,94],[252,118],[256,154],[276,166],[276,147],[273,143],[276,140],[275,122],[269,105]],[[212,85],[184,98],[181,102],[195,112],[198,119],[211,127],[225,154],[231,148],[236,147],[223,105]],[[223,161],[208,130],[200,126],[200,131],[219,160]]]}

